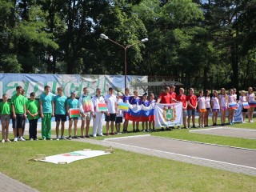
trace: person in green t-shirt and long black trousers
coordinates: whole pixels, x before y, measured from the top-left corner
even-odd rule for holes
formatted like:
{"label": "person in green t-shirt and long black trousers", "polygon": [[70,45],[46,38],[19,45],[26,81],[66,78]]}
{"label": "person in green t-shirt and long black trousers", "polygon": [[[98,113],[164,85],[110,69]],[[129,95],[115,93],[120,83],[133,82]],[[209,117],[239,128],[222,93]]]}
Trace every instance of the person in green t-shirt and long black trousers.
{"label": "person in green t-shirt and long black trousers", "polygon": [[38,118],[39,118],[40,105],[38,100],[35,99],[34,92],[30,93],[30,100],[26,102],[26,114],[30,122],[30,141],[38,140]]}

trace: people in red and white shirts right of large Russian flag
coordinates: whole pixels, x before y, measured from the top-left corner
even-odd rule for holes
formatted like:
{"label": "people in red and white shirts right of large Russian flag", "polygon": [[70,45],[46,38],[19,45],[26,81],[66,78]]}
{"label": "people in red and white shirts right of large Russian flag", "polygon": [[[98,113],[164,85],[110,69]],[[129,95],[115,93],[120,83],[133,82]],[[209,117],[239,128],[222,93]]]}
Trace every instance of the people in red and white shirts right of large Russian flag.
{"label": "people in red and white shirts right of large Russian flag", "polygon": [[[176,96],[174,92],[174,86],[166,86],[165,92],[160,94],[158,102],[162,103],[174,103],[182,102],[182,117],[184,128],[197,128],[195,126],[195,113],[198,110],[198,124],[199,127],[209,126],[209,113],[212,111],[213,126],[217,125],[218,113],[221,113],[221,126],[226,126],[226,112],[228,112],[228,123],[233,125],[234,110],[237,107],[237,102],[242,103],[242,122],[246,122],[246,112],[248,111],[248,122],[253,122],[254,107],[256,106],[255,94],[252,87],[249,87],[248,93],[242,90],[241,96],[238,98],[236,89],[230,89],[229,94],[226,94],[224,88],[221,89],[221,93],[218,94],[217,90],[214,90],[213,97],[210,97],[210,91],[199,90],[199,97],[194,94],[194,89],[190,88],[190,94],[185,95],[184,89],[179,89],[179,94]],[[186,116],[187,126],[186,126]],[[190,126],[190,120],[192,118],[192,126]],[[178,126],[179,128],[179,126]]]}

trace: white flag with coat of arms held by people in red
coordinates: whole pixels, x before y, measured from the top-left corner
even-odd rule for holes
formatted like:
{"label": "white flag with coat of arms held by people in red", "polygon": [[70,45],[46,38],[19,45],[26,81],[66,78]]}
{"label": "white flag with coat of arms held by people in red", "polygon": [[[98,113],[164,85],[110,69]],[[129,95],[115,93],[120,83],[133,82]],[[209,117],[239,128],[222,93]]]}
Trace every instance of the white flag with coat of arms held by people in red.
{"label": "white flag with coat of arms held by people in red", "polygon": [[180,126],[182,122],[182,102],[156,104],[154,107],[155,127]]}

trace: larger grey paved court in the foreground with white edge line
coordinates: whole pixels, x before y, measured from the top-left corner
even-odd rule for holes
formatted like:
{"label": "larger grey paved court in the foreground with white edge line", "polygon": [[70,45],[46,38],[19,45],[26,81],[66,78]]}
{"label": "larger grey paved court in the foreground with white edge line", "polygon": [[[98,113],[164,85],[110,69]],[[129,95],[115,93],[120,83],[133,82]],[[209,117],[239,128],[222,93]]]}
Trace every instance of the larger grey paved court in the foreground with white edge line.
{"label": "larger grey paved court in the foreground with white edge line", "polygon": [[256,175],[256,150],[155,136],[107,138],[105,145],[201,166]]}

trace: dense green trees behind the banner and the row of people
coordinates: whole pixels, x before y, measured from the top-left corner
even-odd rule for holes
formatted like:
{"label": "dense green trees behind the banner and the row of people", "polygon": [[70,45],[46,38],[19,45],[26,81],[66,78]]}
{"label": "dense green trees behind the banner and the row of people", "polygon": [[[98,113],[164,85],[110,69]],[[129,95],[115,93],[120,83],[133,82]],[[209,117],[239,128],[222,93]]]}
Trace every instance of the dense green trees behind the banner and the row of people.
{"label": "dense green trees behind the banner and the row of people", "polygon": [[[170,76],[186,88],[256,83],[256,0],[0,0],[2,72]],[[14,70],[6,64],[10,58]],[[13,58],[13,59],[12,59]],[[250,79],[250,81],[247,80]],[[246,88],[243,88],[246,89]]]}

